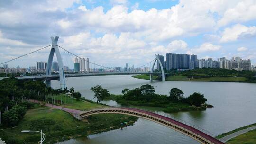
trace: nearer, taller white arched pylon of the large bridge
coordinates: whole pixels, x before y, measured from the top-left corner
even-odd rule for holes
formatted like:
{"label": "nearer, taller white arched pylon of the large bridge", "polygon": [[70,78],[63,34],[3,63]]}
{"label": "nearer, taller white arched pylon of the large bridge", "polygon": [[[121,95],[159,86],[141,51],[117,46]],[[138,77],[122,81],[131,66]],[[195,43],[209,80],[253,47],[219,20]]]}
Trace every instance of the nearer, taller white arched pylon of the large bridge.
{"label": "nearer, taller white arched pylon of the large bridge", "polygon": [[63,61],[62,61],[62,58],[61,58],[61,54],[60,54],[60,51],[59,51],[59,48],[58,48],[59,36],[55,36],[55,38],[52,36],[51,39],[52,39],[52,48],[51,48],[51,52],[49,54],[47,69],[46,69],[46,86],[47,87],[51,86],[51,80],[47,79],[47,76],[51,75],[52,64],[53,64],[53,56],[54,56],[54,52],[55,52],[56,57],[57,57],[57,61],[58,61],[58,66],[59,66],[60,88],[64,89],[65,88],[65,72],[64,72],[64,67],[63,67]]}

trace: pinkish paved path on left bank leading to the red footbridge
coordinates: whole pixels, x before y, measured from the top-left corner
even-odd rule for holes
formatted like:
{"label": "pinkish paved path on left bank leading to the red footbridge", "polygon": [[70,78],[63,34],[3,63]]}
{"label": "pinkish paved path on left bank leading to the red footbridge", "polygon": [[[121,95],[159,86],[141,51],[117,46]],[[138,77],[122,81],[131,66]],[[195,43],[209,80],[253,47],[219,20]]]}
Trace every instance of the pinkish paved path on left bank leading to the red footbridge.
{"label": "pinkish paved path on left bank leading to the red footbridge", "polygon": [[[30,102],[33,102],[33,103],[43,103],[42,101],[34,100],[34,99],[29,99],[29,101],[30,101]],[[81,119],[80,113],[83,112],[82,110],[64,108],[64,107],[62,107],[62,106],[56,106],[56,105],[52,105],[52,104],[49,104],[49,103],[46,103],[46,106],[47,106],[47,107],[51,107],[51,108],[55,108],[55,109],[60,109],[60,110],[66,111],[66,112],[68,112],[68,113],[71,113],[71,114],[73,114],[73,116],[74,116],[75,118],[77,118],[77,119]]]}

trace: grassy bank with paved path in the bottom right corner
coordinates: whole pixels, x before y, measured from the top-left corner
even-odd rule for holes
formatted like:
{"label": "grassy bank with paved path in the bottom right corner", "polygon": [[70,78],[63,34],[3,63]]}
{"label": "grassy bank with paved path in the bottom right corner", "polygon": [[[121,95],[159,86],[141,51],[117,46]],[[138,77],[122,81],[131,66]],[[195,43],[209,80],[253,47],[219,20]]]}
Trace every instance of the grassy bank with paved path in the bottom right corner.
{"label": "grassy bank with paved path in the bottom right corner", "polygon": [[256,123],[218,135],[227,144],[256,144]]}

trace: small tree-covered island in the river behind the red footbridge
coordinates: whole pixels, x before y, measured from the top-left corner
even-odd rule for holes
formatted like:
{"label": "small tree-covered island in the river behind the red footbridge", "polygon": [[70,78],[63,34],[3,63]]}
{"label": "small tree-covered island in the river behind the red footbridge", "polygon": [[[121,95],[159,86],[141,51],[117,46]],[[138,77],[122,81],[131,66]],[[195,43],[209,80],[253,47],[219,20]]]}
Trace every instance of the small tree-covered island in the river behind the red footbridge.
{"label": "small tree-covered island in the river behind the red footbridge", "polygon": [[[207,99],[204,95],[194,92],[188,97],[184,97],[182,90],[173,88],[170,95],[156,94],[152,85],[146,84],[132,90],[122,90],[122,95],[109,95],[104,99],[115,100],[122,106],[140,108],[140,106],[151,107],[151,110],[162,110],[166,113],[189,111],[189,110],[205,110],[213,107],[206,104]],[[156,108],[156,109],[155,109]],[[160,108],[160,109],[159,109]],[[146,108],[148,109],[148,108]]]}

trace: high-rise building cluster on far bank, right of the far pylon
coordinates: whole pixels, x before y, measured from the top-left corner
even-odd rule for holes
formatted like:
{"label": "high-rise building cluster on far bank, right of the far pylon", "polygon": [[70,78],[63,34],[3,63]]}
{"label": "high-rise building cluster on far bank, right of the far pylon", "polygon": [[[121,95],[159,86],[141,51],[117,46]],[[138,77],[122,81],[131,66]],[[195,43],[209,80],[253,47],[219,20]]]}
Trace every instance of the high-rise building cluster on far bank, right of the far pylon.
{"label": "high-rise building cluster on far bank, right of the far pylon", "polygon": [[[218,60],[197,59],[197,55],[190,54],[174,54],[167,53],[166,61],[164,56],[159,55],[160,62],[166,70],[178,69],[188,70],[195,68],[222,68],[222,69],[235,69],[235,70],[253,70],[250,60],[244,60],[240,57],[232,57],[227,60],[225,57],[218,58]],[[160,70],[160,64],[157,62],[157,69]]]}

